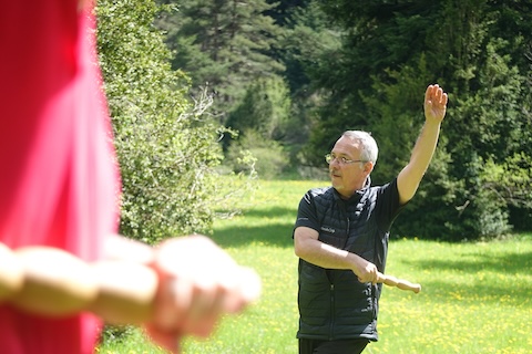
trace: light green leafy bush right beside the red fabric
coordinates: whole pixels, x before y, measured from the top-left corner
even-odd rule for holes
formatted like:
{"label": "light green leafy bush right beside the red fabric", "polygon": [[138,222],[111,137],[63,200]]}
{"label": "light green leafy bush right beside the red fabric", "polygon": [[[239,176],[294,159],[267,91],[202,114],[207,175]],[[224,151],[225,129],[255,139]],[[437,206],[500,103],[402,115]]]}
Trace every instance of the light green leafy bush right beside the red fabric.
{"label": "light green leafy bush right beside the red fabric", "polygon": [[221,131],[206,93],[187,100],[188,79],[172,71],[161,8],[146,1],[98,3],[99,53],[123,178],[120,231],[146,242],[208,231],[222,159]]}

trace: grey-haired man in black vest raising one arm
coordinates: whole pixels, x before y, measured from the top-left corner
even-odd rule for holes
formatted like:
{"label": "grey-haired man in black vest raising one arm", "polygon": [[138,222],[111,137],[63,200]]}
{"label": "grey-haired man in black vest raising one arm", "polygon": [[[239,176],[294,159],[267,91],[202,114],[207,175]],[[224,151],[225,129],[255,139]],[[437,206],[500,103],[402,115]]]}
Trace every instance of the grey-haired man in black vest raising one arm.
{"label": "grey-haired man in black vest raising one arm", "polygon": [[326,156],[332,187],[305,195],[294,230],[300,354],[361,353],[378,340],[376,282],[385,271],[389,230],[429,166],[447,100],[437,84],[428,86],[426,123],[410,162],[385,186],[370,186],[378,147],[368,133],[344,133]]}

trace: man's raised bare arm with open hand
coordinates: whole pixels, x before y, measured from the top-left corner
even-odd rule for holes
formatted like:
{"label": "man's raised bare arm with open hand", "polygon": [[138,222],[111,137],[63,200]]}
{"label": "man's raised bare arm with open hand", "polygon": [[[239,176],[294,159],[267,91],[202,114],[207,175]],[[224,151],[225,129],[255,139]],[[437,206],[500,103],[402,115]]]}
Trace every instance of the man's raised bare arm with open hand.
{"label": "man's raised bare arm with open hand", "polygon": [[446,116],[447,98],[447,93],[437,84],[427,87],[424,94],[426,122],[413,147],[410,162],[397,177],[397,188],[401,204],[406,204],[413,197],[429,167],[438,144],[440,125]]}

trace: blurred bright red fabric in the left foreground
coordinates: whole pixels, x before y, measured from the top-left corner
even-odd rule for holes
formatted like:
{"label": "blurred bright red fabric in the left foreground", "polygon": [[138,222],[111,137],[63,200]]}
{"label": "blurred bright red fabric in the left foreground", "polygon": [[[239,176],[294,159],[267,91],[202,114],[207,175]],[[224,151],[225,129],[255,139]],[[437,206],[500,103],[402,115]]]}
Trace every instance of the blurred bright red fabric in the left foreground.
{"label": "blurred bright red fabric in the left foreground", "polygon": [[[94,260],[119,184],[93,18],[76,0],[0,2],[0,241]],[[92,353],[98,326],[0,305],[0,353]]]}

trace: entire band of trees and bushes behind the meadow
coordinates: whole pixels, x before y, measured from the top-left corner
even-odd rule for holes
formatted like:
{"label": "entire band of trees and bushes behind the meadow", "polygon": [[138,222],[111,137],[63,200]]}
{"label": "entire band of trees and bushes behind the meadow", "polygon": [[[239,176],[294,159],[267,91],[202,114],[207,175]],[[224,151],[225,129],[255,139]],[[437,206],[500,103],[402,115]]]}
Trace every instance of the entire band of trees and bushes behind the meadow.
{"label": "entire band of trees and bushes behind the meadow", "polygon": [[101,0],[98,12],[125,235],[208,229],[213,171],[314,178],[346,129],[372,133],[372,183],[389,181],[430,83],[448,114],[393,233],[532,229],[532,1]]}

